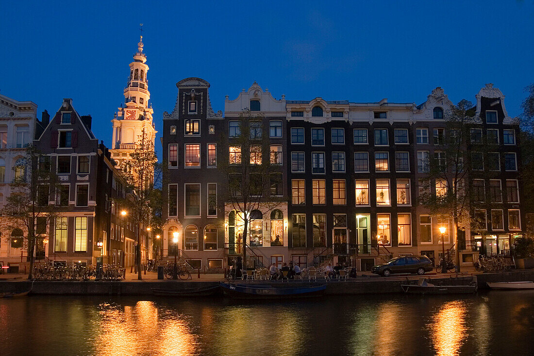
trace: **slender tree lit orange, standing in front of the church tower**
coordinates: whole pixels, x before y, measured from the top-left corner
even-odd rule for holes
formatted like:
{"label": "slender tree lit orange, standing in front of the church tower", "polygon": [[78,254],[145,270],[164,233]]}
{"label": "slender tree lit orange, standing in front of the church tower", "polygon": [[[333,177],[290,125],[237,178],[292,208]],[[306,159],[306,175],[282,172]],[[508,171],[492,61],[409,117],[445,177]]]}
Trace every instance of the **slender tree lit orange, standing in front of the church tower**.
{"label": "slender tree lit orange, standing in front of the church tower", "polygon": [[157,162],[158,157],[154,152],[154,144],[143,131],[142,135],[139,135],[135,150],[123,162],[122,175],[125,181],[126,197],[117,199],[117,202],[127,211],[127,219],[135,226],[137,279],[139,280],[143,279],[141,273],[141,239],[146,234],[147,227],[156,224],[154,203],[158,202],[158,189],[153,189],[153,187],[154,170]]}

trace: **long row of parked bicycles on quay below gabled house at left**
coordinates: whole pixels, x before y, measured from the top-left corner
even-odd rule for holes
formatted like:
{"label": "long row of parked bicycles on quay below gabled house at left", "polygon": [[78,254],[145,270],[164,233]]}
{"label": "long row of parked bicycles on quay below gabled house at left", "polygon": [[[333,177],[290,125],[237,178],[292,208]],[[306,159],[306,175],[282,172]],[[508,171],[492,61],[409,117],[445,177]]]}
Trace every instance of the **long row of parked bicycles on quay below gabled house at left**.
{"label": "long row of parked bicycles on quay below gabled house at left", "polygon": [[53,263],[37,264],[33,270],[36,280],[83,280],[91,279],[118,281],[126,276],[125,268],[115,265],[103,265],[96,268],[92,265],[54,265]]}

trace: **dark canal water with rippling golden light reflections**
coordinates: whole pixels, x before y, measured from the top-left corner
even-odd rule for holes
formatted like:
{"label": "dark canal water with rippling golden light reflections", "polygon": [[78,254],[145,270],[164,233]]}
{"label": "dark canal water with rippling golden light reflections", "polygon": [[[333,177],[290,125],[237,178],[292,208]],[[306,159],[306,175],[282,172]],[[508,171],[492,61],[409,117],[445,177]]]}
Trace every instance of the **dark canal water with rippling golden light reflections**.
{"label": "dark canal water with rippling golden light reflections", "polygon": [[532,355],[534,291],[0,299],[0,355]]}

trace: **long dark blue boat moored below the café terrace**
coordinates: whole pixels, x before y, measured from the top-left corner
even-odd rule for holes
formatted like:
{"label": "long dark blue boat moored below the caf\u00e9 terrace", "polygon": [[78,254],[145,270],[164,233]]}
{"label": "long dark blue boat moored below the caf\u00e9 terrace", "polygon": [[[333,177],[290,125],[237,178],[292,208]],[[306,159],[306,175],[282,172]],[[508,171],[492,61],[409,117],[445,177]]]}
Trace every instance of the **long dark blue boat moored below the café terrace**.
{"label": "long dark blue boat moored below the caf\u00e9 terrace", "polygon": [[305,298],[318,297],[324,294],[326,284],[320,286],[273,287],[245,286],[244,284],[227,284],[221,282],[225,295],[241,299],[276,299],[276,298]]}

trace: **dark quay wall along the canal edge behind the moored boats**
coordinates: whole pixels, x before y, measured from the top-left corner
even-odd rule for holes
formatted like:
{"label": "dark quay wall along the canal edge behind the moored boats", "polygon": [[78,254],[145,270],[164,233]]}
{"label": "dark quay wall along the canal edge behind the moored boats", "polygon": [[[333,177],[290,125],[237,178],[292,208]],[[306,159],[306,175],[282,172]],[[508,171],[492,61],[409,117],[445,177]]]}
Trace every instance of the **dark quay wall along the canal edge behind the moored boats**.
{"label": "dark quay wall along the canal edge behind the moored boats", "polygon": [[[434,284],[469,284],[473,279],[478,283],[478,289],[486,289],[486,282],[511,282],[534,280],[534,270],[510,271],[503,273],[481,273],[476,275],[447,274],[446,276],[426,276]],[[417,276],[410,276],[410,282],[417,281]],[[355,295],[355,294],[385,294],[402,292],[401,284],[407,278],[395,276],[391,278],[357,278],[347,281],[327,282],[327,295]],[[238,282],[239,283],[239,282]],[[317,281],[257,281],[250,284],[271,286],[310,286],[322,284]],[[151,288],[187,289],[216,286],[215,281],[0,281],[0,292],[21,292],[31,289],[35,295],[153,295]]]}

